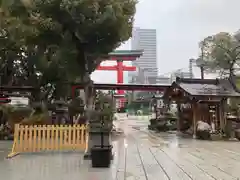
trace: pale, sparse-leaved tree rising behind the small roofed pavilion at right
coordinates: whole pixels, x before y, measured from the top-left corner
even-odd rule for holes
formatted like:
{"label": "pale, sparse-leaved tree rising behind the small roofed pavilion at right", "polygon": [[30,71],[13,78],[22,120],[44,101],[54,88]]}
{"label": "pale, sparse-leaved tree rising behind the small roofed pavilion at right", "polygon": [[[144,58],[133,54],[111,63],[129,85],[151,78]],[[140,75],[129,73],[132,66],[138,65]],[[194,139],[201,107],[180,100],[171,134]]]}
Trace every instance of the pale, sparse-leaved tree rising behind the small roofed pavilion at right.
{"label": "pale, sparse-leaved tree rising behind the small roofed pavilion at right", "polygon": [[200,42],[205,69],[232,78],[240,62],[240,41],[237,34],[221,32]]}

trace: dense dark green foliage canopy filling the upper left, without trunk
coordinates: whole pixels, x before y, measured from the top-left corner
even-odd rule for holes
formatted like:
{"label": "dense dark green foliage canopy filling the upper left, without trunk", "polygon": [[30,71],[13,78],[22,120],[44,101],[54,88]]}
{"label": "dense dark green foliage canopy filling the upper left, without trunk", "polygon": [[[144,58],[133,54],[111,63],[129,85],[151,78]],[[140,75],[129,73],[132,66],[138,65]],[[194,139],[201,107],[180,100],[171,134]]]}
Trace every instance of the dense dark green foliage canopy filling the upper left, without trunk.
{"label": "dense dark green foliage canopy filling the upper left, without trunk", "polygon": [[61,96],[63,82],[83,80],[131,37],[136,3],[0,0],[2,83],[40,86]]}

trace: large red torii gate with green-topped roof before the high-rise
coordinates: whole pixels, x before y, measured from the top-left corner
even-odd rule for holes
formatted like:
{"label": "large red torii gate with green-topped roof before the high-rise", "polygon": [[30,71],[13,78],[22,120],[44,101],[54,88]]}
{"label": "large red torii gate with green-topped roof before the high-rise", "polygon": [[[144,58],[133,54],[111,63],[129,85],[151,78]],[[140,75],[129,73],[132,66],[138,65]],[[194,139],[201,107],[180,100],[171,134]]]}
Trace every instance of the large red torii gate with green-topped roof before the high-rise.
{"label": "large red torii gate with green-topped roof before the high-rise", "polygon": [[[109,53],[109,60],[116,61],[115,66],[99,66],[97,70],[103,71],[117,71],[117,83],[123,84],[123,73],[124,71],[136,71],[135,66],[125,66],[124,61],[135,61],[143,54],[142,50],[116,50]],[[117,95],[124,96],[124,90],[118,90]],[[123,107],[125,98],[119,99],[119,107]]]}

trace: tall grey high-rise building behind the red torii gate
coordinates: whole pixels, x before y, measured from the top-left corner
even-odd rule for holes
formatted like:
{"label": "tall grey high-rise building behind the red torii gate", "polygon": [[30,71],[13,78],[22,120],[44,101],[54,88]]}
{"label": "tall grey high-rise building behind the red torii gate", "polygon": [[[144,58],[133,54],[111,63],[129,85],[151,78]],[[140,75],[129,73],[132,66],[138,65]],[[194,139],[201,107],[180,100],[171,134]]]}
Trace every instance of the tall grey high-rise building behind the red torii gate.
{"label": "tall grey high-rise building behind the red torii gate", "polygon": [[[147,81],[150,84],[156,83],[154,82],[154,78],[158,76],[156,30],[134,28],[132,32],[131,48],[144,50],[143,55],[136,61],[133,61],[133,65],[137,66],[139,72],[144,75],[144,79],[141,81]],[[134,76],[132,73],[130,75]],[[149,82],[149,79],[151,82]]]}

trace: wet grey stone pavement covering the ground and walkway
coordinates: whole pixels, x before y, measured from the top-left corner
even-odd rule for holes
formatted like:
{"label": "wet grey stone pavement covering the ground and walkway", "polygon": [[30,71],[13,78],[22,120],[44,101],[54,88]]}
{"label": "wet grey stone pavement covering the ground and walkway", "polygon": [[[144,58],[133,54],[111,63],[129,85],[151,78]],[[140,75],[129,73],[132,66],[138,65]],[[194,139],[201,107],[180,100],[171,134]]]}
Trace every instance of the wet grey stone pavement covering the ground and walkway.
{"label": "wet grey stone pavement covering the ground and walkway", "polygon": [[[154,134],[148,122],[121,118],[125,134],[113,137],[109,169],[93,169],[82,153],[41,153],[3,157],[10,147],[0,143],[1,179],[8,180],[237,180],[240,142],[198,141],[174,133]],[[134,127],[134,128],[133,128]]]}

